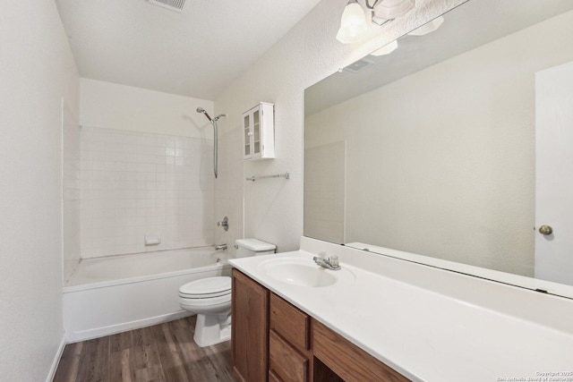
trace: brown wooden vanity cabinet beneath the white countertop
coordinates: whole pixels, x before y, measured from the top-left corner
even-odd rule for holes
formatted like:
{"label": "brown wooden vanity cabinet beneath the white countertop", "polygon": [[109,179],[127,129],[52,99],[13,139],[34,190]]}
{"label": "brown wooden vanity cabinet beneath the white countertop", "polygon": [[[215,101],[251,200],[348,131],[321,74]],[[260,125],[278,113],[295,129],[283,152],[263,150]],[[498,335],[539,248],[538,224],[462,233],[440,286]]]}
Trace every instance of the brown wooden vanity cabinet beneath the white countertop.
{"label": "brown wooden vanity cabinet beneath the white countertop", "polygon": [[233,364],[241,381],[409,380],[236,269],[232,296]]}

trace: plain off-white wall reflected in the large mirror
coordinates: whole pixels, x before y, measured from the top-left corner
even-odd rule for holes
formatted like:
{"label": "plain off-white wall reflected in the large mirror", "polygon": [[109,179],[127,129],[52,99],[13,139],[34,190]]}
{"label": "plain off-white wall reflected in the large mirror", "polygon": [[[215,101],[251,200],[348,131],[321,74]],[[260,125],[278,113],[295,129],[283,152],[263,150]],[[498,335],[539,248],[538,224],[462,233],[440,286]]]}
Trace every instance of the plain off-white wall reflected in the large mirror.
{"label": "plain off-white wall reflected in the large mirror", "polygon": [[572,33],[569,12],[309,116],[346,140],[346,241],[533,276],[535,72]]}

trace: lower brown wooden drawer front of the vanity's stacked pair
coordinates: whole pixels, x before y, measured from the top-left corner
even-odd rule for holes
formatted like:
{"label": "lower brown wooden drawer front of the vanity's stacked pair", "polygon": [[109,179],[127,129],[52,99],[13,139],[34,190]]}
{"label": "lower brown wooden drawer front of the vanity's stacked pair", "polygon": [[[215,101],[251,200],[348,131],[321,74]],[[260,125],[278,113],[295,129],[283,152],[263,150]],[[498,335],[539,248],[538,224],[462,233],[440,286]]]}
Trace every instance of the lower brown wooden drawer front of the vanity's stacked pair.
{"label": "lower brown wooden drawer front of the vanity's stacked pair", "polygon": [[285,382],[308,380],[308,360],[272,330],[269,335],[269,375],[271,372]]}

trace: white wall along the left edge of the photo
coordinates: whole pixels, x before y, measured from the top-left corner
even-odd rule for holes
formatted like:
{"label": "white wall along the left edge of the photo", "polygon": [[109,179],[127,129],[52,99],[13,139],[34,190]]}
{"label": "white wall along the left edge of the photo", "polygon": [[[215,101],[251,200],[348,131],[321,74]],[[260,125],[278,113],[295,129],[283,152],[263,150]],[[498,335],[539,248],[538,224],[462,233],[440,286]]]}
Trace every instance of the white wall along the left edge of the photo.
{"label": "white wall along the left edge of the photo", "polygon": [[61,98],[79,77],[53,1],[0,13],[0,375],[48,378],[62,319]]}

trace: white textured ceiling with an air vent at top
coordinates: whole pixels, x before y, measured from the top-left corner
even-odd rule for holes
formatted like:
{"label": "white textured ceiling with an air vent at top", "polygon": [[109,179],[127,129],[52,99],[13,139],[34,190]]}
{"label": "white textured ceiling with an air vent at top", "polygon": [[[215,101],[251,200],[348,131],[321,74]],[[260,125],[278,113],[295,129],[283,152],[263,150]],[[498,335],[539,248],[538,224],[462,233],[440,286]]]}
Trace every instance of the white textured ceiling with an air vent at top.
{"label": "white textured ceiling with an air vent at top", "polygon": [[81,77],[214,99],[321,0],[56,0]]}

